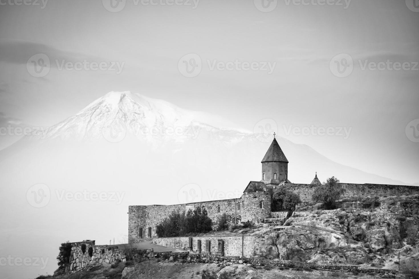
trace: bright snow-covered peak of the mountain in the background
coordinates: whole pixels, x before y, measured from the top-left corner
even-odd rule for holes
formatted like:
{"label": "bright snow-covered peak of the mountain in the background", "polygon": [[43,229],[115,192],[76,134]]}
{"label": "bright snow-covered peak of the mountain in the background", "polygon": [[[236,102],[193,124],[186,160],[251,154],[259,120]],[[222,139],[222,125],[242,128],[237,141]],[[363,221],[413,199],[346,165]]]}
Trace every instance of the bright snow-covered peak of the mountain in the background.
{"label": "bright snow-covered peak of the mountain in the background", "polygon": [[196,138],[201,129],[217,130],[205,123],[208,120],[217,121],[217,118],[129,91],[109,92],[76,115],[50,127],[46,134],[40,133],[34,138],[92,140],[104,137],[116,141],[118,136],[121,139],[129,135],[150,143],[156,138],[182,142]]}

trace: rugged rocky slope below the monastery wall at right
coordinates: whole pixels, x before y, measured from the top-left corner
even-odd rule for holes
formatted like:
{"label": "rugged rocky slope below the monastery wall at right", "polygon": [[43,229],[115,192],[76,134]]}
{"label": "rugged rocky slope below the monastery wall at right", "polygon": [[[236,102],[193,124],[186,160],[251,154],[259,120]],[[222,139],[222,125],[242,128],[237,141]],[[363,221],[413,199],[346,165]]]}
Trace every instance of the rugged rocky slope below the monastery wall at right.
{"label": "rugged rocky slope below the monastery wall at right", "polygon": [[[419,195],[383,197],[366,209],[314,211],[264,235],[255,256],[373,268],[415,266]],[[295,212],[298,216],[298,212]]]}

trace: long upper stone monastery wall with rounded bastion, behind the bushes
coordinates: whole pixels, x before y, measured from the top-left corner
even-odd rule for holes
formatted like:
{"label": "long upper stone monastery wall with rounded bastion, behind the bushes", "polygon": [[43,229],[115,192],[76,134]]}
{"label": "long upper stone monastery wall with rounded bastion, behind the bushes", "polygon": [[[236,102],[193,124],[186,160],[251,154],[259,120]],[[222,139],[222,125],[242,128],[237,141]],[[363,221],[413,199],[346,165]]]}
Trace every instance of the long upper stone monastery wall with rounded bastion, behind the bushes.
{"label": "long upper stone monastery wall with rounded bastion, behind the bushes", "polygon": [[[350,184],[340,183],[345,193],[341,199],[363,198],[367,196],[400,196],[419,194],[419,187],[404,185],[382,184]],[[285,187],[300,196],[302,202],[314,203],[312,196],[318,185],[311,184],[284,184]],[[271,195],[268,191],[244,192],[239,199],[215,200],[208,202],[196,202],[180,205],[132,205],[129,206],[129,242],[136,242],[143,238],[154,238],[156,227],[164,218],[173,211],[188,211],[195,207],[204,207],[209,218],[216,228],[218,220],[223,213],[230,218],[230,222],[238,223],[247,220],[261,223],[265,218],[276,217],[278,214],[271,213]],[[261,205],[262,203],[262,205]],[[220,207],[220,212],[218,210]]]}

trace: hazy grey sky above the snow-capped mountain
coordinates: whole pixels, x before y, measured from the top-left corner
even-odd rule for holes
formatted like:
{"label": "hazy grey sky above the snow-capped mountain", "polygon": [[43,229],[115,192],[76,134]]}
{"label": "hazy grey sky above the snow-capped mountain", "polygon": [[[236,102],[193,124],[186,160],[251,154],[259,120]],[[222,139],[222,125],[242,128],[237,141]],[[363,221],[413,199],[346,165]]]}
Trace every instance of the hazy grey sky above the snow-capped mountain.
{"label": "hazy grey sky above the snow-capped mountain", "polygon": [[[220,115],[250,131],[260,120],[274,119],[280,136],[334,161],[419,182],[419,143],[405,131],[419,119],[419,13],[413,0],[279,0],[264,2],[265,10],[257,0],[178,0],[181,5],[170,6],[162,5],[170,0],[122,0],[119,12],[105,8],[109,1],[0,1],[1,126],[49,126],[109,91],[131,90]],[[178,62],[191,53],[202,69],[185,77]],[[27,69],[36,54],[50,59],[44,77]],[[347,77],[333,70],[339,54],[353,59]],[[84,60],[116,62],[122,72],[60,68]],[[388,60],[407,63],[406,69],[371,68],[370,62]],[[232,70],[220,68],[235,61],[239,66]],[[216,62],[221,66],[212,68]],[[246,71],[243,62],[260,68]],[[272,73],[267,65],[274,66]],[[312,126],[351,130],[347,138],[288,133]],[[411,130],[410,138],[414,132],[419,135]]]}

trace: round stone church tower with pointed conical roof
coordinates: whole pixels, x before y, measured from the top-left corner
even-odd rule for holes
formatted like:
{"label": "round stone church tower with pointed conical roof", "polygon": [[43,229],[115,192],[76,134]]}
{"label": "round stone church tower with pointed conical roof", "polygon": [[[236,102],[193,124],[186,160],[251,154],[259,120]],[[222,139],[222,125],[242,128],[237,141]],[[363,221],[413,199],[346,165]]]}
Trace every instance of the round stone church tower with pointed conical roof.
{"label": "round stone church tower with pointed conical roof", "polygon": [[262,159],[262,182],[266,185],[278,185],[282,182],[291,183],[288,181],[288,160],[282,152],[277,139],[271,143],[268,151]]}

